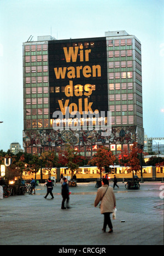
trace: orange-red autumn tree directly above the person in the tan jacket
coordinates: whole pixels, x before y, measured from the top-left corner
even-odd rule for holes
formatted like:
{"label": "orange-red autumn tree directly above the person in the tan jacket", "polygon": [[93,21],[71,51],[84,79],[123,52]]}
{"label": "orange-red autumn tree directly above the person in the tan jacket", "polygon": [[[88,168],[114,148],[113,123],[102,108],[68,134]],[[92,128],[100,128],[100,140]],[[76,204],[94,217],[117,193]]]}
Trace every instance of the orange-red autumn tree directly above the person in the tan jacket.
{"label": "orange-red autumn tree directly above the person in the tan jacket", "polygon": [[102,179],[103,168],[109,167],[109,165],[114,165],[115,159],[116,158],[113,153],[107,147],[103,147],[97,150],[97,153],[89,161],[89,164],[97,166],[100,172],[100,177]]}

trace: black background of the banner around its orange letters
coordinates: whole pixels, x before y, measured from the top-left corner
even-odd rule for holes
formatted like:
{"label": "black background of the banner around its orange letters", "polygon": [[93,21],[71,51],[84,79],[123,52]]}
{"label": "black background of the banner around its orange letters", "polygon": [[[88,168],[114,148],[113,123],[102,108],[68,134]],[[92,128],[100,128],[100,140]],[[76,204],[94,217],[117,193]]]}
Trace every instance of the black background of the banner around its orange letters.
{"label": "black background of the banner around its orange letters", "polygon": [[[76,45],[84,46],[84,51],[86,49],[91,49],[91,53],[89,54],[89,61],[80,62],[80,58],[78,56],[77,62],[66,62],[65,53],[63,51],[63,47],[67,47],[67,50],[70,46],[75,47]],[[77,84],[85,85],[91,84],[96,85],[96,90],[92,91],[92,94],[88,98],[88,102],[93,102],[92,110],[93,112],[98,109],[101,111],[108,111],[108,79],[107,79],[107,46],[106,46],[106,38],[85,38],[85,39],[69,39],[69,40],[52,40],[49,41],[49,85],[51,88],[50,91],[50,118],[52,119],[52,114],[56,110],[60,110],[60,106],[58,104],[58,100],[62,100],[63,106],[66,100],[69,100],[69,104],[76,103],[78,106],[79,98],[82,98],[82,107],[84,111],[84,98],[87,96],[83,95],[81,97],[73,96],[66,97],[65,92],[62,90],[65,86],[69,84],[69,81],[73,81],[73,86]],[[85,56],[85,54],[84,54]],[[80,78],[69,79],[66,77],[65,79],[56,79],[56,75],[54,72],[54,68],[57,67],[70,67],[70,66],[90,66],[92,69],[93,65],[101,66],[101,77],[90,77],[85,78],[83,72],[81,71]],[[55,93],[55,87],[60,87],[60,92]],[[54,92],[53,91],[54,88]],[[63,91],[63,92],[62,92]],[[84,92],[83,92],[84,93]]]}

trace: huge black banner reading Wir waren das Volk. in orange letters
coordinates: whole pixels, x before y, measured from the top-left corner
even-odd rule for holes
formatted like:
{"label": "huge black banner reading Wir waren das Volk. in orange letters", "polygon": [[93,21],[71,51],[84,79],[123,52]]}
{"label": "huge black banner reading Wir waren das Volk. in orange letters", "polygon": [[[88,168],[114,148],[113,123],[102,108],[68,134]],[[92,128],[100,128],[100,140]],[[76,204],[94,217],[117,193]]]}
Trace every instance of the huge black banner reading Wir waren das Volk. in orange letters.
{"label": "huge black banner reading Wir waren das Volk. in orange letters", "polygon": [[108,112],[106,38],[49,41],[50,118]]}

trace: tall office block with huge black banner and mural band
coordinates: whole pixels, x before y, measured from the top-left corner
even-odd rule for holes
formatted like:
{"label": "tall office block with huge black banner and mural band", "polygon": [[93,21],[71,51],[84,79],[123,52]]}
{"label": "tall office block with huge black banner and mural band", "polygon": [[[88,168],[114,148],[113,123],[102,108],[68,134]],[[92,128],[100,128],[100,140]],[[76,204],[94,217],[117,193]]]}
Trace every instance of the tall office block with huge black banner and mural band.
{"label": "tall office block with huge black banner and mural band", "polygon": [[[27,153],[41,148],[58,152],[71,144],[92,157],[102,145],[114,154],[130,149],[135,141],[143,146],[141,45],[135,36],[114,31],[99,38],[38,37],[23,43],[23,73]],[[94,120],[92,130],[66,130],[67,119],[62,129],[61,124],[53,129],[53,113],[65,117],[65,107],[81,115],[110,111],[111,134],[94,129]]]}

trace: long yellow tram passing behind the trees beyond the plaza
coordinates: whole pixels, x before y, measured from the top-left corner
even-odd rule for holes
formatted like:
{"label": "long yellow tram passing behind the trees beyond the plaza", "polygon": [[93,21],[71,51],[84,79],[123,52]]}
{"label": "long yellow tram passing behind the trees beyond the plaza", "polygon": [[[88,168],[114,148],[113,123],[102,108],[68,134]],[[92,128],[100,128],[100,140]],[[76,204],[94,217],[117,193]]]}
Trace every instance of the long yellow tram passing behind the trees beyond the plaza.
{"label": "long yellow tram passing behind the trees beyond the plaza", "polygon": [[[68,181],[72,178],[72,171],[67,167],[60,168],[42,168],[43,181],[48,178],[54,177],[57,182],[60,181],[61,174],[67,177]],[[77,182],[91,182],[97,181],[100,178],[100,172],[96,166],[82,166],[79,167],[77,171],[74,172],[77,176]],[[108,178],[114,179],[116,175],[118,181],[131,180],[133,177],[132,171],[129,167],[122,166],[109,166]],[[106,171],[103,170],[102,177],[106,175]],[[137,171],[137,176],[141,178],[140,170]],[[164,179],[164,167],[154,167],[154,166],[143,166],[142,176],[144,181],[163,181]],[[31,180],[31,178],[40,180],[40,170],[37,173],[24,172],[23,179]]]}

